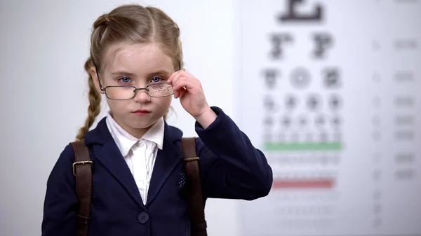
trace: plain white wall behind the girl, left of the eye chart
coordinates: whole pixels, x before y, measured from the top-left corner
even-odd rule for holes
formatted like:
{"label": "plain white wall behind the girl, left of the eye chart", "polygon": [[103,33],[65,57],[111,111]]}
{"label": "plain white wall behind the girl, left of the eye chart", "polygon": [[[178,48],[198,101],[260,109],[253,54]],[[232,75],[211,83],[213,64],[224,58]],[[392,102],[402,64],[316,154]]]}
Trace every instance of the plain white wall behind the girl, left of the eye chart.
{"label": "plain white wall behind the girl, left of the eye chart", "polygon": [[[0,235],[40,235],[46,180],[86,118],[91,25],[127,1],[1,1]],[[148,1],[181,28],[185,65],[209,104],[234,118],[233,1]],[[173,104],[171,124],[194,135],[194,120]],[[209,200],[209,235],[238,235],[236,204]]]}

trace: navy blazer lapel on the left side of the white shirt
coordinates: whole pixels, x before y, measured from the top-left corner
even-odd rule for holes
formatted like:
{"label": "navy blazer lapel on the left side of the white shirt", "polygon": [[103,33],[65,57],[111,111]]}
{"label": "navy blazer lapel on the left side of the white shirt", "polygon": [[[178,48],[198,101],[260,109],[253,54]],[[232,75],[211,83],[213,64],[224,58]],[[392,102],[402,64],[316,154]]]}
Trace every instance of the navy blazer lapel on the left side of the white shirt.
{"label": "navy blazer lapel on the left side of the white shirt", "polygon": [[140,207],[144,208],[145,205],[142,202],[142,197],[140,197],[135,179],[133,179],[133,175],[115,142],[113,140],[106,141],[104,146],[102,146],[102,149],[100,148],[101,146],[94,146],[94,148],[95,147],[100,149],[95,151],[95,153],[100,153],[96,157],[97,160],[108,169],[124,188],[126,188],[133,200],[135,200]]}

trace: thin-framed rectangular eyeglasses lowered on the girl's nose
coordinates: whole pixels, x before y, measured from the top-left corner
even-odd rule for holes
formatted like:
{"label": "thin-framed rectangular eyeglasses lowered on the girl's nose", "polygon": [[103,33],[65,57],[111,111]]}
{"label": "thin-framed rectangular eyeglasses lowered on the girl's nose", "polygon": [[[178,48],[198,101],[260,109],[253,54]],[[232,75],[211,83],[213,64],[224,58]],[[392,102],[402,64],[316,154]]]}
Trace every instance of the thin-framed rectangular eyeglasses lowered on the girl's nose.
{"label": "thin-framed rectangular eyeglasses lowered on the girl's nose", "polygon": [[[179,64],[181,69],[181,63]],[[112,100],[127,100],[132,99],[138,93],[138,90],[145,90],[149,97],[168,97],[174,94],[173,86],[171,83],[154,83],[147,85],[145,88],[136,88],[129,85],[112,85],[102,88],[100,75],[98,74],[98,67],[95,64],[95,69],[100,82],[100,89],[105,92],[105,96]]]}

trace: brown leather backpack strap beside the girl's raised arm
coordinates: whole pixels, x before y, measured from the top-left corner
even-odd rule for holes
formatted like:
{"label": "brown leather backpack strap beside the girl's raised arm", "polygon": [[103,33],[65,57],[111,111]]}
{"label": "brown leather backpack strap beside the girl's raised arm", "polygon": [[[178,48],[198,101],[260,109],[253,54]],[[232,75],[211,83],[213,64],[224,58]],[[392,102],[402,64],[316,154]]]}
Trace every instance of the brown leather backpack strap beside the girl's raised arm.
{"label": "brown leather backpack strap beside the girl's raised arm", "polygon": [[189,216],[192,222],[192,236],[206,236],[205,205],[201,192],[199,157],[196,155],[196,139],[183,138],[182,151],[185,155],[185,174],[187,177],[187,196]]}

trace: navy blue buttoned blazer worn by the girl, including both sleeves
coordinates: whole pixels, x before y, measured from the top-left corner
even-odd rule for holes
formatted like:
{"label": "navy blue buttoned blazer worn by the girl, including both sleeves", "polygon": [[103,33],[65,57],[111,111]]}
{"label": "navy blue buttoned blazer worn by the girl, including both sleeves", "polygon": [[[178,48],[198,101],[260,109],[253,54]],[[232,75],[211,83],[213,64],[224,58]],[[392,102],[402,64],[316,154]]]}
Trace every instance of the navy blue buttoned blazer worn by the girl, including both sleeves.
{"label": "navy blue buttoned blazer worn by the girl, including both sleeves", "polygon": [[[272,169],[239,127],[218,107],[206,129],[196,123],[196,152],[203,197],[254,200],[272,187]],[[190,235],[187,201],[179,186],[182,132],[165,124],[163,149],[156,155],[147,203],[108,131],[105,118],[86,134],[93,160],[89,236]],[[42,235],[75,236],[78,200],[72,174],[74,153],[67,145],[48,177]]]}

